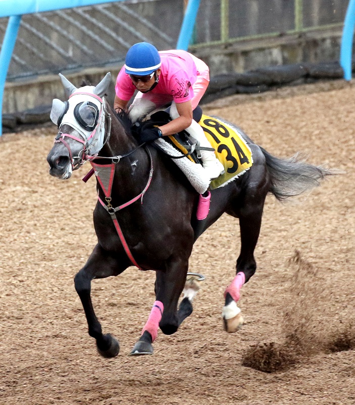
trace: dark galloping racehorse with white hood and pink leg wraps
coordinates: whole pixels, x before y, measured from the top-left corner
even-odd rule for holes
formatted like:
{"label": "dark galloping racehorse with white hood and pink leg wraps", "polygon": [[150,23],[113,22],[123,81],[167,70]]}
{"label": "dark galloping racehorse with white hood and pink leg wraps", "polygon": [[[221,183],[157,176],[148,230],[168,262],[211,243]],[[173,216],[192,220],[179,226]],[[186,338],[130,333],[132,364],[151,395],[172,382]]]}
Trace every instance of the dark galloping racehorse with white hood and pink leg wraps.
{"label": "dark galloping racehorse with white hood and pink leg wraps", "polygon": [[[97,86],[76,88],[63,75],[68,100],[53,100],[51,118],[58,125],[48,153],[49,174],[70,178],[89,160],[96,174],[98,200],[93,212],[97,245],[74,277],[83,305],[88,334],[104,357],[119,353],[118,340],[104,334],[91,302],[91,281],[121,274],[135,265],[156,272],[156,301],[130,354],[152,354],[158,329],[175,333],[192,313],[198,288],[187,280],[189,257],[197,237],[223,213],[239,219],[241,247],[236,275],[224,294],[223,325],[236,332],[243,323],[237,302],[240,289],[255,273],[258,242],[267,194],[284,200],[318,186],[329,169],[294,155],[273,156],[240,128],[252,152],[253,164],[242,176],[211,190],[211,205],[203,229],[194,227],[199,194],[173,160],[154,144],[139,144],[127,113],[117,114],[105,94],[108,73]],[[179,299],[184,296],[178,306]]]}

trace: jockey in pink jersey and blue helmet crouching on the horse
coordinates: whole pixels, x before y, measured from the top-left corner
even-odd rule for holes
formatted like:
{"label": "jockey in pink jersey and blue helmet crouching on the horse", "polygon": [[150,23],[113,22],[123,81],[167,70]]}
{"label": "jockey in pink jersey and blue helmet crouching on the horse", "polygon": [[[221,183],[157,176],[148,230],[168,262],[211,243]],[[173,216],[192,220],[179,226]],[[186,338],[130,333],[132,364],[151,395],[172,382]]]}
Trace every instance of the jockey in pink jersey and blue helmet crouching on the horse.
{"label": "jockey in pink jersey and blue helmet crouching on the horse", "polygon": [[[186,130],[201,147],[211,148],[202,128],[192,119],[210,82],[209,68],[194,55],[182,50],[158,52],[151,44],[141,42],[127,52],[125,65],[117,76],[114,109],[126,109],[137,89],[128,112],[132,121],[172,102],[172,121],[161,127],[149,128],[140,134],[141,141],[153,141],[161,136]],[[224,170],[215,152],[201,150],[202,166],[210,179]]]}

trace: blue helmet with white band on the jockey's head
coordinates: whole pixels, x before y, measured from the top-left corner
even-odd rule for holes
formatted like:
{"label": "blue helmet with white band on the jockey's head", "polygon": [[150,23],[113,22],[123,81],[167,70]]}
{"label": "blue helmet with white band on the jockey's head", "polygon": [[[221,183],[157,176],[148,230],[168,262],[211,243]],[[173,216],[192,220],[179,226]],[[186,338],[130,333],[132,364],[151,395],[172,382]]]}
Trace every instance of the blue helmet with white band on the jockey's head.
{"label": "blue helmet with white band on the jockey's head", "polygon": [[125,62],[126,73],[137,76],[153,73],[162,64],[157,48],[147,42],[139,42],[129,48]]}

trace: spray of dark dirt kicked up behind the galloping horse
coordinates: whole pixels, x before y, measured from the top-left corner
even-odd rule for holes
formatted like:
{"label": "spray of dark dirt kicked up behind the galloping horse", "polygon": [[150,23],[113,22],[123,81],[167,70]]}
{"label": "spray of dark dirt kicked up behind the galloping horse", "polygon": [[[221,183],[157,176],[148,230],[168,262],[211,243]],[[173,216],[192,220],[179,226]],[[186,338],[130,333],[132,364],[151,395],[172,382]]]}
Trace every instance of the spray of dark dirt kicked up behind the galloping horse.
{"label": "spray of dark dirt kicked up behind the galloping horse", "polygon": [[282,342],[258,343],[242,355],[243,366],[264,373],[285,371],[320,352],[355,349],[355,327],[351,322],[335,332],[322,327],[320,302],[328,300],[324,280],[317,269],[299,251],[295,251],[287,264],[291,277],[286,287],[289,299],[283,313]]}

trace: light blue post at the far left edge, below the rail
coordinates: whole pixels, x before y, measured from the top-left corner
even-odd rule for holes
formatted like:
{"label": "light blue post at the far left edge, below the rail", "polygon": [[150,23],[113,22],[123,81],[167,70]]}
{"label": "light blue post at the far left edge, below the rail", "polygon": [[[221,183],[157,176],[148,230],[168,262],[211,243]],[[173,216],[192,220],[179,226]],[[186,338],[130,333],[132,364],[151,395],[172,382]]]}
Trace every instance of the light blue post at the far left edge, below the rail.
{"label": "light blue post at the far left edge, below the rail", "polygon": [[22,16],[11,16],[6,28],[2,49],[0,51],[0,137],[3,135],[3,97],[6,76],[15,47],[17,33]]}

